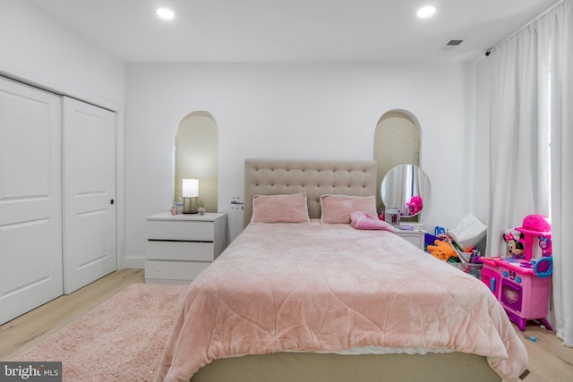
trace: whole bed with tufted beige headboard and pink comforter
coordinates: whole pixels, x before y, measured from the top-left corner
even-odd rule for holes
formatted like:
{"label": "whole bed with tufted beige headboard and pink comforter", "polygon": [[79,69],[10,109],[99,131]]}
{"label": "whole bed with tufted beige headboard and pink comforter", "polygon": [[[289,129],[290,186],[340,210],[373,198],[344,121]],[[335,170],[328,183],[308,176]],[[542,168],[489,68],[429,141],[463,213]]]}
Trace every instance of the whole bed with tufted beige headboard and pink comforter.
{"label": "whole bed with tufted beige headboard and pink comforter", "polygon": [[247,159],[244,171],[245,229],[190,284],[157,381],[516,381],[526,370],[483,283],[387,227],[338,223],[370,208],[375,162]]}

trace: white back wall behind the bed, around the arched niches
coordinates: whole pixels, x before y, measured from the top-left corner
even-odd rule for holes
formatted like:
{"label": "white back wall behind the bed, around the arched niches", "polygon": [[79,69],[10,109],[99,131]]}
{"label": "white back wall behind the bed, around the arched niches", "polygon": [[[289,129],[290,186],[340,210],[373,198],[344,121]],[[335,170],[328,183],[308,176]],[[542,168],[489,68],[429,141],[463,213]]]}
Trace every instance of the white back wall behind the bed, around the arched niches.
{"label": "white back wall behind the bed, around the arched niches", "polygon": [[145,216],[171,207],[175,132],[197,110],[218,124],[218,208],[229,214],[232,238],[243,227],[230,201],[244,195],[244,158],[372,159],[374,128],[391,109],[421,124],[421,166],[432,182],[423,222],[453,228],[471,210],[465,150],[474,98],[463,65],[126,64],[125,71],[125,240],[133,264],[144,254]]}

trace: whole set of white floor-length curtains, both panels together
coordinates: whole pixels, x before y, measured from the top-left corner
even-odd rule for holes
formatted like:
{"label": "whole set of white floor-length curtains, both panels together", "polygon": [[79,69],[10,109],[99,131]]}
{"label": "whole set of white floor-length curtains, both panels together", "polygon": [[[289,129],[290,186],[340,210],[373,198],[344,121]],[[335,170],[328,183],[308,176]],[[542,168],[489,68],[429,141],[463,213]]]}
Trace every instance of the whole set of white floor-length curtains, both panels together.
{"label": "whole set of white floor-length curtains, both panels together", "polygon": [[573,345],[572,57],[573,0],[560,2],[492,49],[486,249],[490,256],[503,254],[501,233],[520,225],[527,215],[552,217],[551,321],[569,346]]}

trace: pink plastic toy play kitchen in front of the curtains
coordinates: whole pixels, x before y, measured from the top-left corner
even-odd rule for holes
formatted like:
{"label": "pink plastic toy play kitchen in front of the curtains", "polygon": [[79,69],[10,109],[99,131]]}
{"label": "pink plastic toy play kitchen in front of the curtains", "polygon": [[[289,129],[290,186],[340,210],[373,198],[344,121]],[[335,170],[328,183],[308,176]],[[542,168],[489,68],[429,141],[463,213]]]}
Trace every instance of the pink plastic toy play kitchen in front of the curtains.
{"label": "pink plastic toy play kitchen in front of the curtains", "polygon": [[[522,233],[523,259],[482,259],[482,281],[500,301],[511,321],[524,331],[528,320],[537,319],[551,330],[545,319],[552,276],[551,223],[546,216],[529,215],[515,230]],[[504,240],[506,238],[504,237]],[[535,255],[537,243],[541,254]]]}

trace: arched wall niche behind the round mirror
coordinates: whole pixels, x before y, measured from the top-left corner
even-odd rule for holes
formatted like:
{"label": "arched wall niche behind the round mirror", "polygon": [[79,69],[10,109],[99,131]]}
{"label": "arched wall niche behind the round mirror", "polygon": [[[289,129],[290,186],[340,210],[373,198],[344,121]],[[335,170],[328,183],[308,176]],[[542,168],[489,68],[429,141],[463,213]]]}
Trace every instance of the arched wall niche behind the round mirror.
{"label": "arched wall niche behind the round mirror", "polygon": [[398,165],[420,166],[420,123],[406,110],[389,110],[374,132],[374,160],[378,163],[376,204],[382,209],[380,186],[384,175]]}

